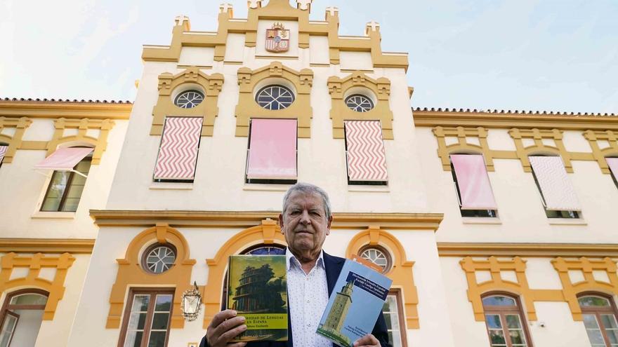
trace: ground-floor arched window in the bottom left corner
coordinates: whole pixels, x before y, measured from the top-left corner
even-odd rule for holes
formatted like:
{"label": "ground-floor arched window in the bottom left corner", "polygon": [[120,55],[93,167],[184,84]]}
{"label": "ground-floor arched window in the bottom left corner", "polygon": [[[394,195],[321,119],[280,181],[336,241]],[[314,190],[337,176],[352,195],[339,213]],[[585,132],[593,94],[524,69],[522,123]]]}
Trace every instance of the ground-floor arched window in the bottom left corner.
{"label": "ground-floor arched window in the bottom left corner", "polygon": [[48,293],[19,290],[8,294],[0,313],[0,347],[34,346],[39,334]]}

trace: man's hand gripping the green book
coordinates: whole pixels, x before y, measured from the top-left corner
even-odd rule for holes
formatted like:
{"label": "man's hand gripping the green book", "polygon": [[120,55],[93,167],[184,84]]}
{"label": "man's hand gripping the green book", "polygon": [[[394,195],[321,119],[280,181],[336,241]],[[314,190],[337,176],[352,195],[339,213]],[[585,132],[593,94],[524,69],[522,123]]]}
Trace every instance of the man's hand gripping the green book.
{"label": "man's hand gripping the green book", "polygon": [[230,343],[231,339],[246,330],[244,317],[236,311],[225,310],[217,313],[206,330],[206,341],[210,347],[243,347],[246,342]]}

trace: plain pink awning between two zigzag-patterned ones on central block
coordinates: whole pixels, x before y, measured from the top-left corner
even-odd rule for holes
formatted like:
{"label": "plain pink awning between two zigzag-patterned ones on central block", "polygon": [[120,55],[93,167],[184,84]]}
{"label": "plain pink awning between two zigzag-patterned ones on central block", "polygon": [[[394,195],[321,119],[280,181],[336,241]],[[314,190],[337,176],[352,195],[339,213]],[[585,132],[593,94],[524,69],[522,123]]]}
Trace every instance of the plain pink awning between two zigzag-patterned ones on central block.
{"label": "plain pink awning between two zigzag-patterned ones on central block", "polygon": [[296,119],[252,119],[248,179],[296,179]]}

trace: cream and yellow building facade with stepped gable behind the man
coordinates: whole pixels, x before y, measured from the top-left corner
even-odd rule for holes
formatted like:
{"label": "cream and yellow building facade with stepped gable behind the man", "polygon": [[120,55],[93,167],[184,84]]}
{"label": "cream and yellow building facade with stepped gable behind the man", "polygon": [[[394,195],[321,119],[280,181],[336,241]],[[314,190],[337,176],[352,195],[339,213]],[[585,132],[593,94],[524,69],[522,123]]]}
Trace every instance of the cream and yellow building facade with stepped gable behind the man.
{"label": "cream and yellow building facade with stepped gable behind the man", "polygon": [[413,111],[377,23],[295,3],[176,18],[132,105],[0,102],[0,346],[197,346],[294,182],[329,192],[326,252],[393,279],[394,346],[616,346],[618,117]]}

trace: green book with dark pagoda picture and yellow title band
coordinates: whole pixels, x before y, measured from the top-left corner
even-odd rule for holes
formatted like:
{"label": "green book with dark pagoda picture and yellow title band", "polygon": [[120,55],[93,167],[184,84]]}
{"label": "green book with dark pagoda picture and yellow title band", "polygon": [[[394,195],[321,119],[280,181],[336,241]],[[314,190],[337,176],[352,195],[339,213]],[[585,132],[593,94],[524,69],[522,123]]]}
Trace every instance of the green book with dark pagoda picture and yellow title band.
{"label": "green book with dark pagoda picture and yellow title band", "polygon": [[287,281],[284,255],[232,255],[228,308],[246,318],[233,341],[287,341]]}

